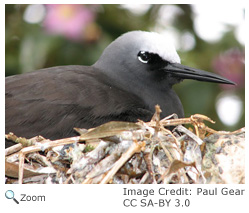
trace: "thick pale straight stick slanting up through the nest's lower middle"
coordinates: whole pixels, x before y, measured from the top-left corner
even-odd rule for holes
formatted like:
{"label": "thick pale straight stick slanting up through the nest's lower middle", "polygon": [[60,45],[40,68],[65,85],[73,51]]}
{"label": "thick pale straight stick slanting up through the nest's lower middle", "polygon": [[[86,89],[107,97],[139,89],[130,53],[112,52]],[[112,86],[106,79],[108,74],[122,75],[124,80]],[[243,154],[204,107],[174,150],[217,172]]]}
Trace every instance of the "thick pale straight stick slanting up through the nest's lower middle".
{"label": "thick pale straight stick slanting up through the nest's lower middle", "polygon": [[108,183],[116,174],[116,172],[126,163],[126,161],[129,160],[133,154],[140,152],[145,147],[145,145],[145,142],[133,142],[130,148],[124,154],[122,154],[112,169],[102,179],[100,184]]}

